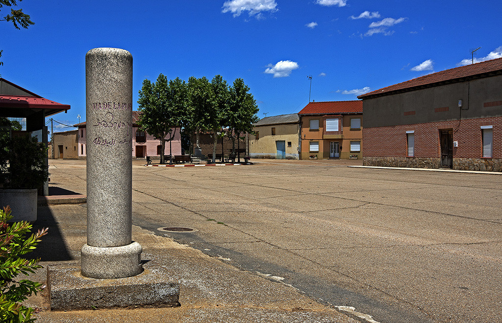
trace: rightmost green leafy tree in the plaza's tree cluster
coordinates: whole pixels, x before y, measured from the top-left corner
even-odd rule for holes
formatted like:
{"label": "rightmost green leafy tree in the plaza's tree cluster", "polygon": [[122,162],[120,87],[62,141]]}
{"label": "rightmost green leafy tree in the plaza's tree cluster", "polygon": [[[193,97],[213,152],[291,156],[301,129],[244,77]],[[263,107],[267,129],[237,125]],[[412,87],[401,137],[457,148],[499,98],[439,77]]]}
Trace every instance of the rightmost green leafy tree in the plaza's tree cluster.
{"label": "rightmost green leafy tree in the plaza's tree cluster", "polygon": [[230,103],[228,107],[229,131],[227,135],[232,140],[232,149],[235,152],[235,139],[239,139],[241,133],[254,133],[253,124],[258,122],[258,106],[249,87],[242,79],[235,79],[230,87]]}

